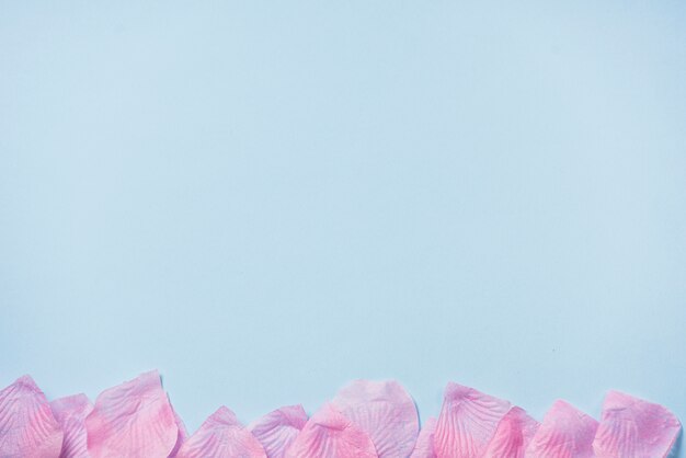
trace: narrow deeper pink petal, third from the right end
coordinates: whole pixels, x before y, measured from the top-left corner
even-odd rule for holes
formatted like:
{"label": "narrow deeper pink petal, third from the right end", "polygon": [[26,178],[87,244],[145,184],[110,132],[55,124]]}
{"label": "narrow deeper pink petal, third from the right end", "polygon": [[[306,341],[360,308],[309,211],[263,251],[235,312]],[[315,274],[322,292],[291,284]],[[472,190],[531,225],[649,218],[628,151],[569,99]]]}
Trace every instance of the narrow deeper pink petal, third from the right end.
{"label": "narrow deeper pink petal, third from the right end", "polygon": [[510,409],[498,424],[483,458],[524,458],[538,426],[538,422],[527,415],[524,409]]}

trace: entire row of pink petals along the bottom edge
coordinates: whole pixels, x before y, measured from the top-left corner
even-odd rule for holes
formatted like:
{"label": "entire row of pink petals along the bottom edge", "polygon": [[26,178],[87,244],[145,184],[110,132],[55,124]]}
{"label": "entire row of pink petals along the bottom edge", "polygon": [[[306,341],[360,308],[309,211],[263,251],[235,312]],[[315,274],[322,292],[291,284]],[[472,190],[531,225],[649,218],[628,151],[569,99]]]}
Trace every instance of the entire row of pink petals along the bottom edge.
{"label": "entire row of pink petals along the bottom edge", "polygon": [[248,426],[226,407],[193,434],[157,371],[48,402],[23,376],[0,391],[0,458],[665,458],[681,423],[662,405],[610,391],[599,421],[556,401],[539,423],[522,408],[448,383],[420,430],[397,381],[355,380],[311,417],[277,409]]}

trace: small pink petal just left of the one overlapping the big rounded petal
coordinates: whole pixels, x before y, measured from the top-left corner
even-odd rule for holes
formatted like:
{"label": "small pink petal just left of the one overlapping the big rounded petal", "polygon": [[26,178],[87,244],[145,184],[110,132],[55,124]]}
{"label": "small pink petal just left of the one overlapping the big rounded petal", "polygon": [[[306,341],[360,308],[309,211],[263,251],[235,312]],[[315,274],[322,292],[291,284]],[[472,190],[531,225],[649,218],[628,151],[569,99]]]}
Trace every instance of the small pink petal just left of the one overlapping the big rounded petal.
{"label": "small pink petal just left of the one overlapping the big rounded petal", "polygon": [[262,444],[268,458],[283,458],[306,423],[302,405],[287,405],[267,413],[248,430]]}

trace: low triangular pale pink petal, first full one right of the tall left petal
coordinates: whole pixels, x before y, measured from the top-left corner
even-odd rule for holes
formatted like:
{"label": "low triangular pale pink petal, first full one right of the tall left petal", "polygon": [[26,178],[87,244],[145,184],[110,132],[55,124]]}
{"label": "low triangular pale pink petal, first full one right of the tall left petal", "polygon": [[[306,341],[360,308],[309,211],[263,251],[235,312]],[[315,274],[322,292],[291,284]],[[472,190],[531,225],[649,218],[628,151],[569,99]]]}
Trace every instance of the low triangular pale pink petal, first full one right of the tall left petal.
{"label": "low triangular pale pink petal, first full one right of the tall left petal", "polygon": [[265,458],[258,439],[221,407],[181,446],[176,458]]}

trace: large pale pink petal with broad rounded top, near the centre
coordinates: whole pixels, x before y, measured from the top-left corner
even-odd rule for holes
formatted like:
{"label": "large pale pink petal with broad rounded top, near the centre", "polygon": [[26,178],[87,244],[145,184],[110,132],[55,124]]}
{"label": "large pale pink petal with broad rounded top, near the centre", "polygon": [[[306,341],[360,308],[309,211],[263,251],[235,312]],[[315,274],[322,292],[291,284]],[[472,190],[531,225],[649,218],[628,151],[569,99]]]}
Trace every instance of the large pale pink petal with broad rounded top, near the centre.
{"label": "large pale pink petal with broad rounded top, near the centre", "polygon": [[365,431],[379,458],[407,458],[420,430],[416,407],[397,381],[355,380],[331,402]]}

